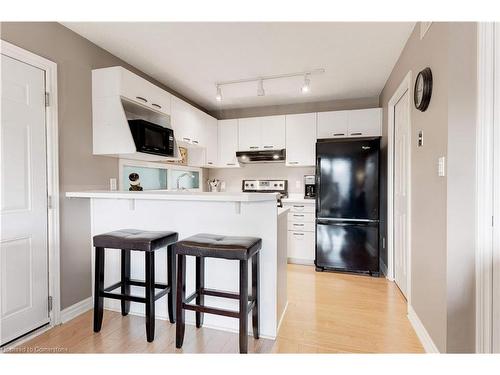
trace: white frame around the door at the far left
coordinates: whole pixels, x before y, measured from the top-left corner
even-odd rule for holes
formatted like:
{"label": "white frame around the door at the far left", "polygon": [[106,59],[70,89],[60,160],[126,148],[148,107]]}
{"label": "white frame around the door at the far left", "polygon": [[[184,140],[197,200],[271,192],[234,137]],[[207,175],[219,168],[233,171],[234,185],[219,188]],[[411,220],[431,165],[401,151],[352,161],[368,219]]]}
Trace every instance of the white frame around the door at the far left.
{"label": "white frame around the door at the far left", "polygon": [[[47,142],[47,195],[48,195],[48,256],[49,296],[52,296],[50,325],[60,323],[60,268],[59,268],[59,149],[57,121],[57,64],[23,48],[0,40],[0,53],[34,66],[45,72],[45,91],[49,103],[45,110]],[[1,302],[0,302],[1,303]],[[0,327],[1,329],[1,327]]]}

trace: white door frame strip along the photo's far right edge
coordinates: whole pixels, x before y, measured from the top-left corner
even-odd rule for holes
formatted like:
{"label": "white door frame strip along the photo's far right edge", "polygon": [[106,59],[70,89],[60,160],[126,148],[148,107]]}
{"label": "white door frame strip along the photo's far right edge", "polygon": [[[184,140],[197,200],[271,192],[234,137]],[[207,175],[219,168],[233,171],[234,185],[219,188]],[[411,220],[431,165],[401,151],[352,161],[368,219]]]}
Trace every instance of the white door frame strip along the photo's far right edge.
{"label": "white door frame strip along the photo's far right edge", "polygon": [[500,269],[494,269],[500,262],[500,203],[495,196],[500,166],[494,162],[500,160],[500,49],[495,48],[500,24],[478,23],[477,38],[476,352],[491,353],[493,320],[499,314],[493,296],[499,295],[495,288],[500,282]]}

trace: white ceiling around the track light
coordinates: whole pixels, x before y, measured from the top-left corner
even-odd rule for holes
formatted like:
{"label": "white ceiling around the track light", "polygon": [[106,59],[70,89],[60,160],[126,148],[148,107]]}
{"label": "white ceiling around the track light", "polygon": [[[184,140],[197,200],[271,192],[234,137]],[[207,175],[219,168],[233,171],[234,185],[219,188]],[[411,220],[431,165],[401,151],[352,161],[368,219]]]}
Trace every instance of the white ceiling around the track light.
{"label": "white ceiling around the track light", "polygon": [[[378,96],[412,22],[67,22],[64,25],[208,110]],[[324,68],[311,77],[218,81]]]}

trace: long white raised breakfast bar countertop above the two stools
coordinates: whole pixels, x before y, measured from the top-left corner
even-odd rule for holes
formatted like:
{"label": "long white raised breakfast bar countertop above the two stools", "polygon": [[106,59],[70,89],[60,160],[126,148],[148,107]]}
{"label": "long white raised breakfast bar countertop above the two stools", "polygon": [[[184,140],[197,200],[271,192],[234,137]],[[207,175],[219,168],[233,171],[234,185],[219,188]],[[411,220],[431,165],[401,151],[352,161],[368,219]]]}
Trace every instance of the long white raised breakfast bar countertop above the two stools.
{"label": "long white raised breakfast bar countertop above the two stools", "polygon": [[70,191],[67,198],[101,198],[101,199],[143,199],[174,201],[212,201],[212,202],[262,202],[276,201],[277,194],[270,193],[229,193],[229,192],[193,192],[193,191]]}

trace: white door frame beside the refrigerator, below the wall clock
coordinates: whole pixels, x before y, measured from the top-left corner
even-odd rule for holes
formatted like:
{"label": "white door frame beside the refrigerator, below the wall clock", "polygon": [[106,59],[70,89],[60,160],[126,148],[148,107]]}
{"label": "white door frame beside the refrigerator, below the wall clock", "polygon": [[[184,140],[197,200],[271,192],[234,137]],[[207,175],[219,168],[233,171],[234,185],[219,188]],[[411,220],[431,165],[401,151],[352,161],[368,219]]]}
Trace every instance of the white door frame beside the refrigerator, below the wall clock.
{"label": "white door frame beside the refrigerator, below the wall clock", "polygon": [[412,90],[411,90],[411,70],[406,74],[405,78],[399,85],[398,89],[394,92],[389,100],[387,106],[387,278],[391,281],[395,279],[394,273],[394,107],[399,102],[399,99],[408,91],[408,122],[410,126],[410,137],[408,138],[408,151],[410,152],[408,160],[408,259],[407,259],[407,282],[406,282],[406,295],[408,299],[408,306],[411,301],[411,103],[412,103]]}

